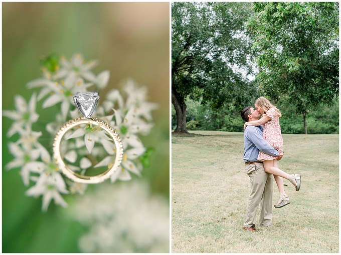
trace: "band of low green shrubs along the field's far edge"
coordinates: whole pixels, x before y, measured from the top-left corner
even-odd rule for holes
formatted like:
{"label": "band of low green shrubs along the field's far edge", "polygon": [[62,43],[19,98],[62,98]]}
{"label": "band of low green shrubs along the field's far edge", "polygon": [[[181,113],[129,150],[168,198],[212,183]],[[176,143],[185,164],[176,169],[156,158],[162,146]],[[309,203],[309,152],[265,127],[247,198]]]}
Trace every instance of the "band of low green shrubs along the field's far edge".
{"label": "band of low green shrubs along the field's far edge", "polygon": [[[226,106],[213,109],[210,104],[201,105],[188,98],[187,128],[188,130],[213,130],[243,132],[244,121],[240,117],[242,109]],[[250,104],[253,105],[253,104]],[[295,106],[288,104],[285,99],[278,101],[276,106],[280,109],[281,131],[283,134],[304,134],[303,115],[295,112]],[[331,107],[320,105],[307,114],[307,130],[309,134],[337,134],[338,100]],[[176,125],[175,111],[172,111],[173,127]]]}

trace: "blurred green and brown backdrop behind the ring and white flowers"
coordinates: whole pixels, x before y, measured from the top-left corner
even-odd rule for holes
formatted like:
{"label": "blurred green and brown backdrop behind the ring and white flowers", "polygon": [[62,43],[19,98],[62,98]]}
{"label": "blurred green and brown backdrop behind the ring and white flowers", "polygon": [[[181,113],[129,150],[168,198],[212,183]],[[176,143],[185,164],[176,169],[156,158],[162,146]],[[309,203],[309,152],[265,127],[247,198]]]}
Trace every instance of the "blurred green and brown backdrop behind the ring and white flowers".
{"label": "blurred green and brown backdrop behind the ring and white flowers", "polygon": [[[71,58],[82,53],[86,61],[98,59],[93,72],[110,71],[105,91],[120,88],[120,82],[130,77],[148,87],[148,101],[158,103],[154,128],[142,137],[145,147],[155,148],[142,179],[154,194],[169,200],[169,3],[2,5],[3,109],[14,109],[16,94],[31,97],[34,90],[25,86],[41,77],[39,62],[50,54]],[[48,111],[38,114],[44,118]],[[79,252],[77,241],[86,229],[53,202],[43,213],[41,198],[25,196],[19,169],[4,170],[13,159],[6,136],[11,123],[3,118],[3,252]],[[64,198],[72,203],[77,195]]]}

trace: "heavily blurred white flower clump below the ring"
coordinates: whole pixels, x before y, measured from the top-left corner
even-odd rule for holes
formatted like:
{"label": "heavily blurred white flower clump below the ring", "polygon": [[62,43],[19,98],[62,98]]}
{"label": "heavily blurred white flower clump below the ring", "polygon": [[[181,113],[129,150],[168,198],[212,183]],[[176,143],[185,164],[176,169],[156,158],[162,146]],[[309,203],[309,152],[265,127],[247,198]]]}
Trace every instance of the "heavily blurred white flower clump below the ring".
{"label": "heavily blurred white flower clump below the ring", "polygon": [[82,252],[169,252],[169,203],[142,181],[102,185],[70,212],[88,228],[78,242]]}

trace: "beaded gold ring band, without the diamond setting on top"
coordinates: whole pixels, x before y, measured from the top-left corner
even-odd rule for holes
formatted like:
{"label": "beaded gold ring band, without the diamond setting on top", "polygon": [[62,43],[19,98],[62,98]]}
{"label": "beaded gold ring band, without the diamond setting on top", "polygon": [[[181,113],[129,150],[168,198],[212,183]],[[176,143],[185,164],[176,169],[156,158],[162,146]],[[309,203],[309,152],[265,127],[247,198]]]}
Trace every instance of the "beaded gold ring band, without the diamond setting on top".
{"label": "beaded gold ring band, without the diamond setting on top", "polygon": [[[109,167],[106,171],[101,174],[94,175],[94,176],[87,176],[75,173],[72,171],[64,162],[61,152],[60,152],[60,145],[62,138],[66,134],[67,131],[70,129],[81,125],[81,124],[92,124],[102,128],[106,131],[109,136],[112,138],[113,142],[116,146],[116,157],[115,162]],[[77,118],[70,120],[64,124],[64,126],[58,131],[54,143],[53,143],[53,155],[58,168],[71,180],[80,183],[100,183],[106,179],[108,179],[113,173],[115,173],[122,162],[123,158],[123,145],[121,143],[121,139],[118,137],[115,130],[110,127],[110,125],[104,121],[99,120],[98,118]]]}

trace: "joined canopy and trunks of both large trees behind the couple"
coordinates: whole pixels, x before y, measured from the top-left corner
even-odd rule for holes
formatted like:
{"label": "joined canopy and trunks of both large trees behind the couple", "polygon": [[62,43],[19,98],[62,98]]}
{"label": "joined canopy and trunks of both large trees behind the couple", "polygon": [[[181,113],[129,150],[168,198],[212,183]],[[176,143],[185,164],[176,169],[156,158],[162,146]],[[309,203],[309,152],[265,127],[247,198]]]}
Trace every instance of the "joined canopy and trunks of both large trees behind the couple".
{"label": "joined canopy and trunks of both large trees behind the couple", "polygon": [[173,3],[175,131],[187,132],[188,97],[236,111],[266,96],[293,106],[306,133],[309,111],[338,102],[338,9],[338,2]]}

